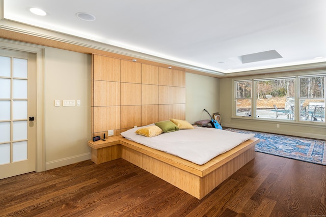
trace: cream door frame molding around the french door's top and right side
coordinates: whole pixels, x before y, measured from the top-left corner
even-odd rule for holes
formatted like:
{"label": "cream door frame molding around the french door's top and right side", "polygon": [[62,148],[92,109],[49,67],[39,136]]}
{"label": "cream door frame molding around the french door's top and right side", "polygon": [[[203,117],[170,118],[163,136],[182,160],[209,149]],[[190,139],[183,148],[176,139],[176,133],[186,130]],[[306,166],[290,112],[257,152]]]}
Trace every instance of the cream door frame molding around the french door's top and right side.
{"label": "cream door frame molding around the french door's top and right side", "polygon": [[0,39],[0,48],[34,53],[36,55],[36,172],[45,171],[44,137],[44,61],[45,47],[7,39]]}

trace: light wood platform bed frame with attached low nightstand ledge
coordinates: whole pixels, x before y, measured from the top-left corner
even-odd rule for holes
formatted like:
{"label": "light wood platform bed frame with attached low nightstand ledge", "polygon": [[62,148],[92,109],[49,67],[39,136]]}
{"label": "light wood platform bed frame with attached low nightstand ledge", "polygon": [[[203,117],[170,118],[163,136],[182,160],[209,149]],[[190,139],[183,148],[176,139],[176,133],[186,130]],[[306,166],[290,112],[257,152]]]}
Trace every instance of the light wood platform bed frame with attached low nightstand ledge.
{"label": "light wood platform bed frame with attached low nightstand ledge", "polygon": [[202,199],[235,171],[254,159],[255,144],[258,142],[257,138],[247,140],[204,165],[194,164],[122,136],[108,137],[105,141],[88,141],[88,145],[92,148],[92,161],[96,164],[122,158]]}

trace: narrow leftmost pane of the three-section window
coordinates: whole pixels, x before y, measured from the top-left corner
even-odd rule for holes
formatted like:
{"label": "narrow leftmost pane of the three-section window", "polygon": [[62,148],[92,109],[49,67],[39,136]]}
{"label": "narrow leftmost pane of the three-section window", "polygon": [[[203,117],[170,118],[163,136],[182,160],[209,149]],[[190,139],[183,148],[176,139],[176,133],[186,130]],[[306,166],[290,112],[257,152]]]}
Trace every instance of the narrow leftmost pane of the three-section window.
{"label": "narrow leftmost pane of the three-section window", "polygon": [[236,86],[235,108],[237,116],[251,116],[252,97],[251,86],[252,81],[238,81]]}

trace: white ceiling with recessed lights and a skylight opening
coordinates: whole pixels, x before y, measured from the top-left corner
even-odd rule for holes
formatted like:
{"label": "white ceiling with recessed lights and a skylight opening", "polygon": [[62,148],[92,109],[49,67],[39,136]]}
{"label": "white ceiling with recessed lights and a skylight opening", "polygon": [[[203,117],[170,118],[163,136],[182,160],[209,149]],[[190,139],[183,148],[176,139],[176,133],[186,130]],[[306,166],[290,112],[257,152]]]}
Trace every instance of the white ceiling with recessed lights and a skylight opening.
{"label": "white ceiling with recessed lights and a skylight opening", "polygon": [[[6,20],[216,72],[326,61],[325,0],[3,1]],[[33,7],[47,15],[32,14]],[[96,19],[81,20],[78,12]],[[271,50],[282,58],[242,63],[239,57]]]}

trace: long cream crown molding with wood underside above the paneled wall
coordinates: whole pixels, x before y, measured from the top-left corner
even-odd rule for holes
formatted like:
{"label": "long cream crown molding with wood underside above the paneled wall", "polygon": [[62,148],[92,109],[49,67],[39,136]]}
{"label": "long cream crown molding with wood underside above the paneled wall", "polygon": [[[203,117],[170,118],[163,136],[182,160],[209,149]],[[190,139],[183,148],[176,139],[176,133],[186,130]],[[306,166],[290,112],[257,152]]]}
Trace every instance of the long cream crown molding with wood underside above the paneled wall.
{"label": "long cream crown molding with wood underside above the paneled wall", "polygon": [[[1,31],[0,37],[11,39],[11,40],[17,40],[21,42],[38,44],[38,45],[49,46],[49,47],[56,47],[60,49],[71,50],[71,51],[76,51],[81,53],[101,53],[97,51],[104,51],[104,52],[108,52],[107,55],[109,55],[109,53],[122,55],[123,57],[120,58],[124,58],[124,59],[129,59],[129,58],[143,59],[143,60],[151,61],[153,63],[165,64],[169,66],[172,65],[175,67],[188,69],[189,72],[198,71],[202,73],[207,73],[210,76],[212,75],[221,76],[221,77],[225,76],[225,73],[223,72],[218,72],[218,71],[208,70],[208,69],[204,69],[188,64],[183,64],[177,61],[160,58],[157,56],[152,56],[145,53],[140,53],[137,51],[132,51],[125,48],[120,48],[117,46],[108,45],[108,44],[104,44],[88,39],[83,39],[83,38],[79,38],[63,33],[53,32],[48,29],[42,29],[35,26],[14,22],[7,19],[0,20],[0,28],[10,31],[9,33],[8,32],[5,33],[4,31]],[[19,35],[19,34],[23,34],[23,35]],[[38,37],[43,40],[36,40],[35,38],[32,37]],[[67,43],[79,47],[77,48],[74,46],[69,46],[67,45]]]}

